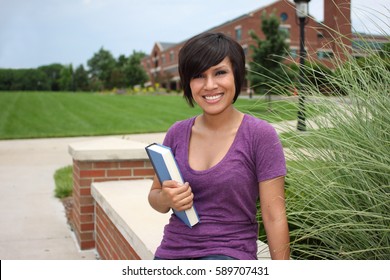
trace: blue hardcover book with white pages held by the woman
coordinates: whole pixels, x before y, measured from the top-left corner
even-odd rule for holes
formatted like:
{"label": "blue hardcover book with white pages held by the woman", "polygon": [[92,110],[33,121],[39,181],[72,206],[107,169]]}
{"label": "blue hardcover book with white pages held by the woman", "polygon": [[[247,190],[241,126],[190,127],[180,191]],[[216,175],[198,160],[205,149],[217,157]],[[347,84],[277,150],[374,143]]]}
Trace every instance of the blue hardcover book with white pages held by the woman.
{"label": "blue hardcover book with white pages held by the woman", "polygon": [[[174,180],[180,184],[184,184],[183,177],[180,173],[179,167],[177,166],[171,148],[154,143],[147,146],[145,150],[161,185],[166,180]],[[198,213],[196,212],[194,206],[185,211],[177,211],[173,209],[173,212],[190,228],[199,223]]]}

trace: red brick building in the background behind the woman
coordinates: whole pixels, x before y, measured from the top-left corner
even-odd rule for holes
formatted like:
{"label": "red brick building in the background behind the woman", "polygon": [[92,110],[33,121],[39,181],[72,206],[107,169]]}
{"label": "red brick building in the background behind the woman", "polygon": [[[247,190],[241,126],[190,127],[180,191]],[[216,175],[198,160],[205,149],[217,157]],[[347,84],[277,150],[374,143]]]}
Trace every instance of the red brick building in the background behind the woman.
{"label": "red brick building in the background behind the woman", "polygon": [[[250,45],[254,40],[249,35],[253,30],[260,39],[265,39],[261,30],[261,15],[275,13],[280,17],[280,29],[288,34],[287,41],[290,46],[290,56],[298,62],[299,54],[299,25],[296,17],[295,5],[288,0],[279,0],[213,27],[205,32],[222,32],[232,36],[244,48],[247,60],[251,58]],[[339,34],[342,34],[340,36]],[[354,38],[359,40],[364,35],[353,34],[351,30],[351,0],[324,0],[324,21],[322,23],[308,17],[305,26],[305,47],[309,59],[332,68],[332,59],[339,57],[345,59],[345,50],[353,51],[358,47],[353,43]],[[185,38],[188,39],[188,38]],[[377,36],[377,44],[388,42],[388,38]],[[160,86],[170,90],[180,89],[178,73],[178,53],[185,41],[180,43],[155,43],[149,56],[142,60],[142,66],[149,75],[149,85],[159,83]],[[339,42],[343,43],[343,48]],[[355,54],[354,54],[355,55]],[[356,55],[361,53],[356,52]]]}

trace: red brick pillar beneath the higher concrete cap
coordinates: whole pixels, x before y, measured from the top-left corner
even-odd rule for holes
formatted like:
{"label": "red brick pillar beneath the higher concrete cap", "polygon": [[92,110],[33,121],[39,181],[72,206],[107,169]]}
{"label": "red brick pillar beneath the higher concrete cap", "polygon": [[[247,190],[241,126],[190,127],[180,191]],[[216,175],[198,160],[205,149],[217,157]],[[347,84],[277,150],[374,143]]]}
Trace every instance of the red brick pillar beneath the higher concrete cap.
{"label": "red brick pillar beneath the higher concrete cap", "polygon": [[153,167],[147,159],[73,160],[73,229],[82,250],[96,246],[94,233],[96,210],[91,196],[91,184],[115,180],[150,179],[153,175]]}

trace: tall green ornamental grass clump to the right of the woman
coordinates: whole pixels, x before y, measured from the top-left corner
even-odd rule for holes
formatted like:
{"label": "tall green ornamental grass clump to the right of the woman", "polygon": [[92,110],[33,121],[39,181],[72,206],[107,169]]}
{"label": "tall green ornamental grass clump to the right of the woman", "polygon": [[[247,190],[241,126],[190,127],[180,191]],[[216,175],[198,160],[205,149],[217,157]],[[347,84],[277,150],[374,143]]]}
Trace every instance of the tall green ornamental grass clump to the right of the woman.
{"label": "tall green ornamental grass clump to the right of the woman", "polygon": [[307,84],[325,115],[282,135],[295,259],[390,259],[390,60],[366,51],[325,76],[335,97]]}

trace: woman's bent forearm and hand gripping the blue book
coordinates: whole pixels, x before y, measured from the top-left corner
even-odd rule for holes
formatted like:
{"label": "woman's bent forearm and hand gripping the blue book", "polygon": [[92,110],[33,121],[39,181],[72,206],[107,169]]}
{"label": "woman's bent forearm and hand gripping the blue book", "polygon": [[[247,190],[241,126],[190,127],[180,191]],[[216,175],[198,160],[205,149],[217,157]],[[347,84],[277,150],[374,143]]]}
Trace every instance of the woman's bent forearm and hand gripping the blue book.
{"label": "woman's bent forearm and hand gripping the blue book", "polygon": [[164,181],[161,186],[154,177],[149,192],[149,204],[158,212],[167,213],[171,208],[183,211],[192,207],[194,195],[188,183],[179,184],[176,181]]}

